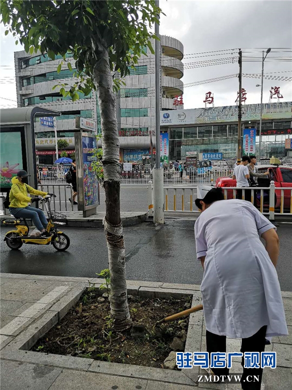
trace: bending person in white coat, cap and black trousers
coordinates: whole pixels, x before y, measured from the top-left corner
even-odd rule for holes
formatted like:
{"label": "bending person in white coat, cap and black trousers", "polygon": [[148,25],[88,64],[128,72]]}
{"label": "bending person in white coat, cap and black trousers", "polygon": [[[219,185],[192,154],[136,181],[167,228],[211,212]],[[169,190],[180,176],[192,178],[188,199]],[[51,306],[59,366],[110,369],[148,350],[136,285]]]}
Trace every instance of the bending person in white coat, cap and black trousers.
{"label": "bending person in white coat, cap and black trousers", "polygon": [[[220,188],[198,188],[195,203],[202,212],[195,223],[195,238],[204,269],[201,294],[207,352],[226,352],[226,336],[242,338],[243,353],[262,352],[266,337],[288,334],[275,270],[276,228],[252,203],[224,200]],[[227,368],[212,371],[229,372]],[[262,369],[244,368],[241,377],[242,389],[259,390],[260,383],[245,380],[248,375],[259,375],[261,381]]]}

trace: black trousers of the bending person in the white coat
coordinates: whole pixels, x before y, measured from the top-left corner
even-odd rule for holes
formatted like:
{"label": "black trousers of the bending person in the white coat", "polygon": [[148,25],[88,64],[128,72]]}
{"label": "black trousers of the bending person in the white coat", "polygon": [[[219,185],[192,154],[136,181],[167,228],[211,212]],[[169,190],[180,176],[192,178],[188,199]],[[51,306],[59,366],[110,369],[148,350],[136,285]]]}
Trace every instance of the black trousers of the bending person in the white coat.
{"label": "black trousers of the bending person in the white coat", "polygon": [[[243,353],[241,366],[244,366],[244,352],[263,352],[266,345],[266,331],[267,326],[263,326],[253,336],[243,338],[241,342],[240,352]],[[226,336],[219,336],[218,334],[206,331],[206,343],[207,352],[209,353],[209,360],[211,361],[211,352],[226,352]],[[237,352],[237,351],[232,351]],[[228,375],[229,369],[227,368],[214,368],[211,369],[216,375]],[[243,367],[243,374],[241,377],[241,387],[244,390],[260,390],[260,384],[262,380],[263,369],[245,369]],[[247,382],[246,377],[248,375],[259,375],[259,382]],[[245,380],[245,382],[244,382]]]}

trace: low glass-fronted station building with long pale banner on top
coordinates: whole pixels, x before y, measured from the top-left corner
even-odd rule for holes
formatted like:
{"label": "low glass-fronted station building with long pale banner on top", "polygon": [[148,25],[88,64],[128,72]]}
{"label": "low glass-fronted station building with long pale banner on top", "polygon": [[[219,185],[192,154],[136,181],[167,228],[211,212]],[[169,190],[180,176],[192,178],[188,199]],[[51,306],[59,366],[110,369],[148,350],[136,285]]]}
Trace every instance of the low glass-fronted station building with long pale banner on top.
{"label": "low glass-fronted station building with long pale banner on top", "polygon": [[[183,160],[187,152],[223,153],[224,159],[237,156],[238,107],[223,106],[161,112],[161,132],[169,137],[169,159]],[[242,106],[244,129],[256,129],[259,152],[260,104]],[[262,114],[261,156],[292,156],[285,140],[292,138],[292,102],[265,103]],[[290,143],[291,144],[291,143]]]}

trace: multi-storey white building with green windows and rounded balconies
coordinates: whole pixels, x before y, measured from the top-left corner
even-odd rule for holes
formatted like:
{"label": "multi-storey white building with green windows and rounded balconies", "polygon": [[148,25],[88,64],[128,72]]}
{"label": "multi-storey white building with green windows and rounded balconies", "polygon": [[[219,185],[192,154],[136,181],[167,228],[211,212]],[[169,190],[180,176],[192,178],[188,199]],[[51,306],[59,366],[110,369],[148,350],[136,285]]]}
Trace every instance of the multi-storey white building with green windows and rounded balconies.
{"label": "multi-storey white building with green windows and rounded balconies", "polygon": [[[161,109],[176,110],[183,105],[176,105],[175,98],[183,95],[183,44],[177,39],[161,36]],[[152,42],[154,47],[154,41]],[[145,48],[135,69],[125,77],[117,94],[117,119],[120,137],[121,161],[149,161],[151,151],[155,153],[155,56]],[[47,54],[28,55],[25,51],[15,52],[15,70],[18,107],[30,105],[42,106],[61,113],[56,118],[57,137],[69,142],[68,154],[74,150],[74,132],[76,117],[91,118],[97,122],[100,132],[100,114],[95,92],[89,96],[79,94],[79,99],[72,101],[64,98],[59,89],[53,87],[59,83],[73,85],[75,60],[67,53],[72,71],[63,65],[57,56],[51,60]],[[66,69],[65,69],[66,67]],[[36,149],[39,163],[52,164],[55,159],[54,129],[35,123]],[[151,148],[151,145],[153,148]]]}

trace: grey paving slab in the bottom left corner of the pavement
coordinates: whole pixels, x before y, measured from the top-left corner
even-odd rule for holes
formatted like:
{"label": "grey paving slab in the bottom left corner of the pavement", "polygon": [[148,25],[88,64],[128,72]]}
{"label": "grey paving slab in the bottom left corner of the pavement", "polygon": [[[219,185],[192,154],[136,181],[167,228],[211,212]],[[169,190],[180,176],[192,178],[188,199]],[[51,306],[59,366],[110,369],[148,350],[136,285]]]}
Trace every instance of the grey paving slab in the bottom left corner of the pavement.
{"label": "grey paving slab in the bottom left corner of the pavement", "polygon": [[1,390],[48,390],[60,373],[57,367],[1,360]]}

